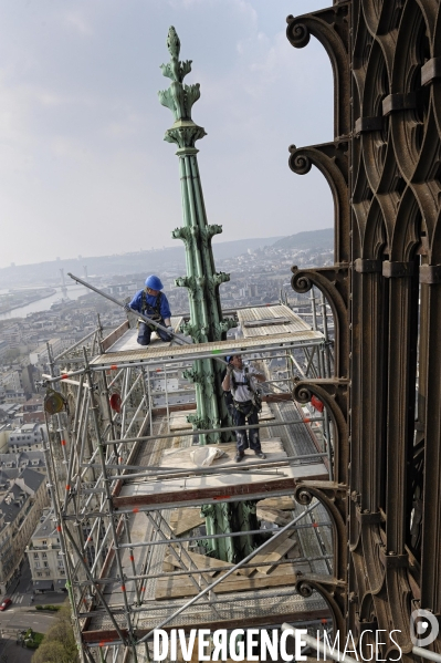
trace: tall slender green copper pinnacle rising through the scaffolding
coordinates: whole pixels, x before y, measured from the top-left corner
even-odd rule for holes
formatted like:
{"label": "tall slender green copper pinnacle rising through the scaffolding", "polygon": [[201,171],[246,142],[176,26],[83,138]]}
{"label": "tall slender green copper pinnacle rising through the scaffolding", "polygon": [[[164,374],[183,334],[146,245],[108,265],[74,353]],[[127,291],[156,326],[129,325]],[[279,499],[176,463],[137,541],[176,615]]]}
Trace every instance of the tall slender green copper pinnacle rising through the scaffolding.
{"label": "tall slender green copper pinnacle rising through the scaffolding", "polygon": [[[185,85],[185,76],[191,71],[191,60],[179,60],[180,41],[175,28],[167,38],[170,62],[161,65],[162,74],[171,80],[168,90],[159,92],[159,101],[170,108],[175,123],[166,131],[165,139],[178,146],[179,172],[182,197],[182,226],[172,231],[172,237],[181,239],[186,247],[187,276],[176,280],[177,286],[187,288],[190,302],[190,321],[183,325],[183,333],[190,334],[195,343],[221,341],[227,331],[237,323],[223,320],[219,286],[230,280],[230,274],[217,272],[214,268],[211,239],[222,232],[222,226],[207,222],[206,206],[195,147],[196,141],[203,138],[204,130],[191,118],[191,110],[200,97],[199,83]],[[186,376],[196,386],[197,414],[188,417],[195,429],[222,428],[230,425],[221,386],[222,364],[214,360],[198,360]],[[221,431],[200,435],[200,444],[228,442],[229,433]],[[209,505],[202,507],[207,532],[231,532],[256,529],[255,505],[238,503]],[[249,555],[253,548],[252,537],[225,537],[206,542],[210,555],[227,561],[235,561]]]}

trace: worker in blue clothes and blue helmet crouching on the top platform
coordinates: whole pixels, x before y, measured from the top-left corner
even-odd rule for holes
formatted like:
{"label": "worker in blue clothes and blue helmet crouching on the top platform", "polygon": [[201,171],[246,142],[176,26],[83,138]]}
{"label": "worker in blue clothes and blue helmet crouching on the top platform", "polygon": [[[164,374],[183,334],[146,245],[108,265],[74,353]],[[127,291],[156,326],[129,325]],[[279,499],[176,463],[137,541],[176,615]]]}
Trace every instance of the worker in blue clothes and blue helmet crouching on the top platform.
{"label": "worker in blue clothes and blue helmet crouching on the top platform", "polygon": [[[125,309],[127,311],[135,309],[135,311],[139,311],[143,315],[147,315],[147,318],[151,318],[151,320],[155,320],[155,322],[158,322],[172,332],[170,307],[167,297],[161,292],[162,288],[164,286],[159,277],[150,274],[146,279],[146,287],[143,290],[138,290],[130,303],[126,304]],[[156,331],[162,341],[169,342],[172,339],[171,334],[157,329],[153,324],[148,324],[144,320],[138,320],[137,341],[139,345],[149,345],[153,331]]]}

